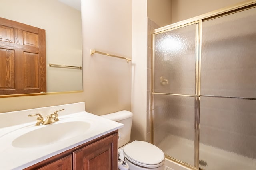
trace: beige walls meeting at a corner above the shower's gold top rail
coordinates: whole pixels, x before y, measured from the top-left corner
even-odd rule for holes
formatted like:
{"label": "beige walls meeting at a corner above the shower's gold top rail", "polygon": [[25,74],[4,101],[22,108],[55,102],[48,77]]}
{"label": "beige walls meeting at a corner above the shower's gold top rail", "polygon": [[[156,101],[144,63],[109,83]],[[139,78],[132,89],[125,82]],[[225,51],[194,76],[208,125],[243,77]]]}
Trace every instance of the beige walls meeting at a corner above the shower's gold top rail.
{"label": "beige walls meeting at a corner above the shower's gold top rail", "polygon": [[240,2],[244,0],[148,0],[147,16],[163,27]]}

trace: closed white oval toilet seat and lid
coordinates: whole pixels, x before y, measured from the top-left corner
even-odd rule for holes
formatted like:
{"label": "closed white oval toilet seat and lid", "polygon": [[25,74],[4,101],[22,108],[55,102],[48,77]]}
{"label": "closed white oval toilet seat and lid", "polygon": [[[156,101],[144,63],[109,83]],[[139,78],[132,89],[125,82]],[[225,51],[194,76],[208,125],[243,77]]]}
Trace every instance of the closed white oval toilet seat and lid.
{"label": "closed white oval toilet seat and lid", "polygon": [[156,168],[164,164],[164,152],[145,141],[133,141],[126,145],[124,156],[130,162],[147,168]]}

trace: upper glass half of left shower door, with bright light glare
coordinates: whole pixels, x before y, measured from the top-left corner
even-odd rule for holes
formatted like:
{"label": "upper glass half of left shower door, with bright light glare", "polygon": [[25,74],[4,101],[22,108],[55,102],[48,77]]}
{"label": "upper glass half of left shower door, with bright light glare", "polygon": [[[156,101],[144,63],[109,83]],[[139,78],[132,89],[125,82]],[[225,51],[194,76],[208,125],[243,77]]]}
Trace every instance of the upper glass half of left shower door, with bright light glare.
{"label": "upper glass half of left shower door, with bright light glare", "polygon": [[196,24],[155,35],[155,92],[195,94]]}

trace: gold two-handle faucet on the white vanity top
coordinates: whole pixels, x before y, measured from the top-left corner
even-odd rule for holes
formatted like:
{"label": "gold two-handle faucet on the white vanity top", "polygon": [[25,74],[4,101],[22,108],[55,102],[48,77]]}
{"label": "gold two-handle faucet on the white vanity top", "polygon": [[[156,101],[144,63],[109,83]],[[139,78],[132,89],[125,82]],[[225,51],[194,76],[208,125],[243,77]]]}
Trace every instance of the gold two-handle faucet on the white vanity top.
{"label": "gold two-handle faucet on the white vanity top", "polygon": [[54,122],[56,122],[56,121],[59,121],[59,119],[58,119],[58,116],[59,116],[59,115],[57,114],[57,112],[58,112],[58,111],[62,111],[62,110],[64,110],[64,109],[56,110],[56,111],[54,111],[54,113],[52,113],[52,114],[46,116],[46,120],[45,120],[45,121],[44,121],[44,118],[42,117],[42,115],[39,114],[39,113],[37,113],[37,114],[29,114],[28,117],[36,116],[36,115],[38,116],[38,118],[36,119],[37,122],[36,122],[36,125],[35,125],[35,126],[47,125],[47,124],[50,124],[50,123],[54,123]]}

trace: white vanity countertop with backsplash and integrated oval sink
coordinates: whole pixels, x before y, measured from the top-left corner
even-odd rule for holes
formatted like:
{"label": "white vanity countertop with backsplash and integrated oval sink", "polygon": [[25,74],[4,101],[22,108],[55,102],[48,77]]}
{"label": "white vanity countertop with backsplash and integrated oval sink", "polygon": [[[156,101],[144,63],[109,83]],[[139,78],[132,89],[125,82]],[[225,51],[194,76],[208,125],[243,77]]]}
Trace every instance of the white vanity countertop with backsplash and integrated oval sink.
{"label": "white vanity countertop with backsplash and integrated oval sink", "polygon": [[[47,115],[64,109],[59,121],[35,126],[40,113]],[[74,149],[123,125],[85,111],[84,102],[13,111],[0,114],[0,170],[21,170]]]}

